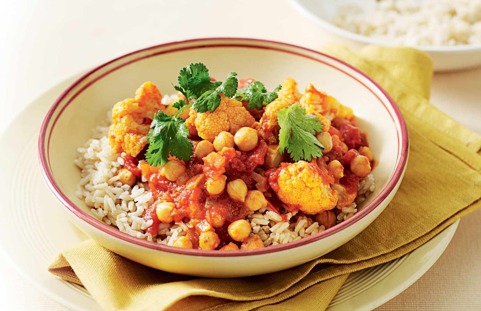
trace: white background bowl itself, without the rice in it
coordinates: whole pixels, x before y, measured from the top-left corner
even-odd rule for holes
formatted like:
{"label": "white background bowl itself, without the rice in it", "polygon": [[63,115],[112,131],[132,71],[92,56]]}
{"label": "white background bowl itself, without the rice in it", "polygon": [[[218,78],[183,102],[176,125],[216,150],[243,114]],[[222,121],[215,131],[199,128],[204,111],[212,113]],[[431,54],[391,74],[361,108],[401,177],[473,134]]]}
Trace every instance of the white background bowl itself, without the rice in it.
{"label": "white background bowl itself, without the rice in it", "polygon": [[[337,13],[339,7],[356,2],[363,1],[289,0],[289,3],[306,18],[327,31],[342,37],[347,42],[353,43],[356,47],[367,44],[396,46],[389,41],[360,35],[329,22],[329,19]],[[481,43],[456,46],[413,46],[413,48],[428,53],[433,62],[433,69],[437,72],[462,70],[481,65]]]}

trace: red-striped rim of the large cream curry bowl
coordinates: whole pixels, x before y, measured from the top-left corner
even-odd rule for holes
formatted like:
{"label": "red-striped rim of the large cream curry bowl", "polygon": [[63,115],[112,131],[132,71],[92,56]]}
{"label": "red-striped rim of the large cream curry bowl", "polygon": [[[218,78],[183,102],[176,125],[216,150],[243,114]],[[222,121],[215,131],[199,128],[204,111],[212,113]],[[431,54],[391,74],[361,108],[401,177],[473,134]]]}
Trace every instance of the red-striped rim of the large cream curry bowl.
{"label": "red-striped rim of the large cream curry bowl", "polygon": [[[130,236],[127,233],[124,233],[124,232],[118,230],[117,228],[114,228],[114,227],[112,227],[108,224],[105,224],[105,223],[95,219],[93,216],[89,215],[85,211],[82,211],[82,209],[80,209],[79,207],[77,207],[76,204],[73,203],[65,195],[65,193],[63,193],[63,191],[60,189],[60,187],[55,182],[53,174],[51,173],[51,171],[49,169],[49,164],[48,164],[49,160],[48,160],[48,158],[46,156],[46,152],[45,152],[45,150],[48,149],[48,147],[45,148],[48,125],[50,124],[50,121],[52,119],[52,116],[53,116],[54,112],[60,106],[64,97],[73,88],[75,88],[77,84],[79,84],[84,79],[89,77],[89,75],[97,72],[101,68],[103,68],[103,67],[105,67],[105,66],[107,66],[110,63],[113,63],[115,61],[121,60],[123,58],[126,58],[128,56],[131,56],[133,54],[136,54],[136,53],[139,53],[139,52],[142,52],[142,51],[154,50],[154,49],[158,49],[158,48],[181,45],[181,44],[186,44],[186,43],[187,44],[199,43],[199,45],[191,46],[190,47],[191,49],[204,48],[204,47],[209,47],[209,46],[218,46],[218,44],[216,45],[216,44],[214,44],[212,42],[208,42],[208,41],[221,41],[221,42],[224,42],[224,43],[226,43],[226,42],[229,43],[229,41],[235,41],[235,42],[232,42],[232,43],[227,44],[227,45],[224,44],[222,46],[240,46],[240,44],[238,42],[243,41],[244,44],[245,44],[245,47],[289,52],[289,53],[292,53],[292,54],[295,54],[295,55],[304,56],[304,57],[307,57],[309,59],[321,62],[320,60],[317,60],[317,59],[315,59],[313,57],[310,57],[306,54],[302,54],[299,51],[314,53],[314,54],[320,55],[322,57],[329,58],[329,59],[331,59],[335,62],[338,62],[341,65],[348,67],[349,69],[353,70],[357,74],[360,74],[364,78],[366,78],[370,83],[373,84],[374,88],[377,88],[383,94],[385,99],[387,99],[389,101],[389,103],[391,104],[391,107],[394,111],[394,114],[395,114],[395,116],[391,115],[392,119],[394,121],[394,117],[395,117],[395,118],[397,118],[397,120],[399,122],[399,132],[398,132],[398,140],[399,140],[399,150],[398,150],[398,152],[400,152],[399,162],[395,166],[394,172],[392,173],[392,176],[389,179],[386,187],[384,187],[381,190],[380,194],[376,198],[374,198],[369,204],[367,204],[367,206],[365,206],[361,211],[355,213],[353,217],[350,217],[347,220],[343,221],[342,223],[336,224],[335,226],[333,226],[329,229],[326,229],[326,230],[324,230],[324,231],[322,231],[322,232],[320,232],[320,233],[318,233],[314,236],[305,237],[305,238],[297,240],[297,241],[292,241],[292,242],[289,242],[289,243],[286,243],[286,244],[279,244],[279,245],[271,246],[271,247],[267,247],[267,248],[248,249],[248,250],[242,250],[242,251],[217,251],[217,250],[201,250],[201,249],[183,249],[183,248],[176,248],[176,247],[171,247],[171,246],[147,241],[147,240],[144,240],[144,239],[140,239],[138,237]],[[257,45],[254,45],[255,43]],[[275,45],[275,47],[262,46],[260,44],[270,44],[270,45]],[[288,51],[288,50],[282,50],[281,47],[294,48],[297,51],[293,52],[293,51]],[[184,48],[181,48],[180,50],[182,50],[182,49],[184,49]],[[140,57],[139,59],[143,59],[143,58],[145,58],[145,57]],[[128,63],[131,63],[131,62],[127,62],[126,64],[128,64]],[[338,70],[341,70],[339,67],[336,67],[336,66],[332,66],[332,67],[334,67]],[[105,75],[108,75],[111,72],[112,71],[108,71]],[[345,73],[345,74],[349,75],[348,73]],[[354,78],[354,79],[356,79],[356,78]],[[91,82],[89,82],[89,83],[91,83]],[[362,82],[360,82],[360,83],[362,84]],[[365,86],[365,87],[367,87],[367,86]],[[374,94],[374,92],[371,88],[369,88],[369,87],[367,87],[367,88]],[[378,97],[376,94],[375,94],[375,96]],[[65,106],[61,109],[63,110],[65,108]],[[386,107],[386,109],[387,109],[387,107]],[[61,112],[57,115],[57,118],[60,116],[60,114],[61,114]],[[54,121],[56,121],[56,120],[54,120]],[[53,125],[52,125],[51,130],[53,129]],[[50,134],[49,134],[49,140],[50,140]],[[119,57],[117,57],[117,58],[115,58],[111,61],[105,62],[105,63],[93,68],[92,70],[90,70],[86,74],[82,75],[81,77],[79,77],[76,81],[74,81],[69,87],[67,87],[60,94],[60,96],[53,102],[52,106],[50,107],[49,111],[47,112],[47,114],[46,114],[46,116],[45,116],[45,118],[42,122],[42,125],[40,127],[40,132],[39,132],[39,136],[38,136],[38,160],[39,160],[41,173],[42,173],[45,181],[47,182],[49,188],[53,192],[53,194],[57,197],[57,199],[59,199],[62,202],[62,204],[69,211],[73,212],[76,217],[85,221],[89,225],[92,225],[93,227],[101,230],[104,234],[108,234],[110,236],[120,238],[120,239],[124,240],[125,242],[129,242],[129,243],[135,244],[135,245],[140,246],[140,247],[146,247],[146,248],[149,248],[149,249],[155,249],[155,250],[160,250],[160,251],[165,251],[165,252],[175,253],[175,254],[181,254],[181,255],[205,256],[205,257],[237,257],[237,256],[262,255],[262,254],[267,254],[267,253],[272,253],[272,252],[278,252],[278,251],[281,251],[281,250],[292,249],[292,248],[304,246],[304,245],[309,244],[311,242],[321,240],[321,239],[326,238],[328,236],[331,236],[331,235],[333,235],[333,234],[335,234],[339,231],[342,231],[343,229],[349,227],[351,224],[354,224],[354,223],[358,222],[359,220],[361,220],[362,218],[364,218],[371,211],[374,211],[380,205],[380,203],[389,196],[389,194],[392,192],[392,190],[399,184],[399,182],[400,182],[400,180],[401,180],[401,178],[404,174],[404,170],[405,170],[405,166],[406,166],[406,162],[407,162],[407,157],[408,157],[408,149],[409,149],[409,138],[408,138],[408,134],[407,134],[407,127],[406,127],[405,120],[403,118],[403,115],[402,115],[401,111],[399,110],[399,108],[395,104],[394,100],[392,100],[392,98],[389,96],[389,94],[382,87],[380,87],[380,85],[377,84],[372,78],[370,78],[368,75],[366,75],[365,73],[363,73],[359,69],[356,69],[355,67],[349,65],[346,62],[343,62],[339,59],[336,59],[336,58],[334,58],[332,56],[329,56],[327,54],[318,52],[316,50],[311,50],[311,49],[307,49],[307,48],[304,48],[304,47],[300,47],[300,46],[297,46],[297,45],[284,43],[284,42],[271,41],[271,40],[265,40],[265,39],[256,39],[256,38],[242,38],[242,37],[206,37],[206,38],[194,38],[194,39],[188,39],[188,40],[182,40],[182,41],[173,41],[173,42],[168,42],[168,43],[159,44],[159,45],[151,46],[151,47],[148,47],[148,48],[136,50],[136,51],[124,54],[122,56],[119,56]]]}

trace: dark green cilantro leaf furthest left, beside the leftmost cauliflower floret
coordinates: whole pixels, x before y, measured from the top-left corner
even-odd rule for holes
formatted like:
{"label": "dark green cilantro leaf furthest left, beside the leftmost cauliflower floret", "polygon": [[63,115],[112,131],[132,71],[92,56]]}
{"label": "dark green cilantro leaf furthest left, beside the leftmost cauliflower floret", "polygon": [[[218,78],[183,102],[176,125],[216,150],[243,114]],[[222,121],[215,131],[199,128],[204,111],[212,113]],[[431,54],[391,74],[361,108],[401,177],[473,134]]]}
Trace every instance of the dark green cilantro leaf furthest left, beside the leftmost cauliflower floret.
{"label": "dark green cilantro leaf furthest left, beside the leftmost cauliflower floret", "polygon": [[179,117],[168,116],[163,111],[154,114],[149,130],[149,148],[145,161],[153,166],[162,166],[168,161],[169,152],[179,160],[188,160],[194,145],[187,136],[189,130]]}

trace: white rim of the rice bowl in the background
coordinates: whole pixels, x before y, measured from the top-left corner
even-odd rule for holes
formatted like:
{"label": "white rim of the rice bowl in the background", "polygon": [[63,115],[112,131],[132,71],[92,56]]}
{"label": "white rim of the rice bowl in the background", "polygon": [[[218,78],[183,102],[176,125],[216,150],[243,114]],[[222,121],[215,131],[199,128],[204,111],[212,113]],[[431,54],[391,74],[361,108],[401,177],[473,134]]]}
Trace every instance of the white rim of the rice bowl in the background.
{"label": "white rim of the rice bowl in the background", "polygon": [[[323,28],[337,35],[340,35],[342,37],[347,37],[353,41],[362,42],[364,44],[375,44],[375,45],[381,45],[381,46],[387,46],[387,47],[402,46],[400,44],[375,39],[373,37],[364,36],[364,35],[349,31],[347,29],[338,27],[330,23],[329,21],[325,20],[324,18],[321,18],[316,13],[310,11],[304,5],[303,1],[300,1],[300,0],[288,0],[288,1],[291,4],[291,6],[294,7],[294,9],[296,9],[297,12],[301,13],[311,21],[315,22],[317,25],[320,25]],[[481,43],[461,44],[461,45],[454,45],[454,46],[406,45],[406,47],[422,50],[425,52],[431,52],[431,53],[458,53],[458,52],[481,51]]]}

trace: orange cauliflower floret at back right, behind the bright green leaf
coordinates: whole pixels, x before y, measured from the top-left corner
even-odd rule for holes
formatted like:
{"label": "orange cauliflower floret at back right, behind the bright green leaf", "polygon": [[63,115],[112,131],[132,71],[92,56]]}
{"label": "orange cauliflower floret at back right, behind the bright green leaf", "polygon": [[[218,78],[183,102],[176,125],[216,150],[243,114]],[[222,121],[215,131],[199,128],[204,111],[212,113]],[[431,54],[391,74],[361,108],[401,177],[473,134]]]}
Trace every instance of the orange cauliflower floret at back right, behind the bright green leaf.
{"label": "orange cauliflower floret at back right, behind the bright green leaf", "polygon": [[311,107],[322,115],[328,115],[331,119],[338,116],[351,121],[354,118],[351,108],[341,105],[332,96],[318,91],[311,83],[305,88],[305,94],[300,101],[303,108]]}

